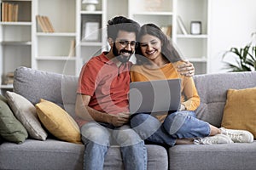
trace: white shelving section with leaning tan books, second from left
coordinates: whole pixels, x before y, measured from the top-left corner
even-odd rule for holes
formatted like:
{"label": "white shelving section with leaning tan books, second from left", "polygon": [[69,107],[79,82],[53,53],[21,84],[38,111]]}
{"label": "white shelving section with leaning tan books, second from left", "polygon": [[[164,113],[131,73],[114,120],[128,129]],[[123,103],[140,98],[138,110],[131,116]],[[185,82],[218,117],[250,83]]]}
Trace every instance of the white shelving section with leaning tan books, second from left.
{"label": "white shelving section with leaning tan books, second from left", "polygon": [[[76,39],[76,0],[34,0],[32,68],[75,75],[76,56],[68,56]],[[49,17],[55,31],[43,32],[37,15]]]}

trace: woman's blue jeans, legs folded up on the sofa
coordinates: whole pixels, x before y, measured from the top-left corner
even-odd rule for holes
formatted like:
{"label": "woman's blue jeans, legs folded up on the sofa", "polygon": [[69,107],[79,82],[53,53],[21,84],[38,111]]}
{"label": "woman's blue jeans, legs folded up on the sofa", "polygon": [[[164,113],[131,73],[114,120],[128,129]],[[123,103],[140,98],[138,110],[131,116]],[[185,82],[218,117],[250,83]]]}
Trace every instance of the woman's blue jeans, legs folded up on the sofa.
{"label": "woman's blue jeans, legs folded up on the sofa", "polygon": [[177,111],[166,116],[161,123],[147,113],[139,113],[131,118],[131,127],[142,139],[157,144],[173,146],[176,139],[207,137],[210,125],[195,117],[194,111]]}

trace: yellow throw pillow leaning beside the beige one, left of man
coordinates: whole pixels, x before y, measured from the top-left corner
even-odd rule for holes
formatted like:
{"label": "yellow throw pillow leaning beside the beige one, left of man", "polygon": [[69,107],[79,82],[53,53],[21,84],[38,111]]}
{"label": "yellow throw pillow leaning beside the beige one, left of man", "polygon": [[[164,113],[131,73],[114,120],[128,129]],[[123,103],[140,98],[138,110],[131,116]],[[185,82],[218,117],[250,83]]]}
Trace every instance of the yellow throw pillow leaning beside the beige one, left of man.
{"label": "yellow throw pillow leaning beside the beige one, left of man", "polygon": [[79,126],[67,111],[45,99],[40,100],[36,109],[40,121],[49,133],[52,133],[58,139],[81,144]]}

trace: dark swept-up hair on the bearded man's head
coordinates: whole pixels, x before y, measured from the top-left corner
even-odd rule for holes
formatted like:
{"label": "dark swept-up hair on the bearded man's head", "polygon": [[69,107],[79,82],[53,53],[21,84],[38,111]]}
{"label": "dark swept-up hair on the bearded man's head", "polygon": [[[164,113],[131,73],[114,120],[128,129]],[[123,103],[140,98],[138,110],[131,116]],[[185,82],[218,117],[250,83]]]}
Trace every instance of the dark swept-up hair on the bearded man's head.
{"label": "dark swept-up hair on the bearded man's head", "polygon": [[107,31],[108,38],[111,37],[115,41],[119,31],[135,32],[137,37],[140,25],[135,20],[125,18],[124,16],[116,16],[108,20]]}

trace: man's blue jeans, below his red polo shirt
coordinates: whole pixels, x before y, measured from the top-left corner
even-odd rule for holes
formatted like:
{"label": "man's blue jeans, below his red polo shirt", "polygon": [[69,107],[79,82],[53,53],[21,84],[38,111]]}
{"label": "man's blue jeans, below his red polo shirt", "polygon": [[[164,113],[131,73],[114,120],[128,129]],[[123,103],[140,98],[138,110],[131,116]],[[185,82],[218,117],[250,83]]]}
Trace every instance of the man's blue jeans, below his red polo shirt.
{"label": "man's blue jeans, below his red polo shirt", "polygon": [[130,126],[113,127],[108,123],[88,122],[81,127],[84,142],[84,169],[101,170],[111,145],[119,145],[125,170],[146,170],[147,150]]}

